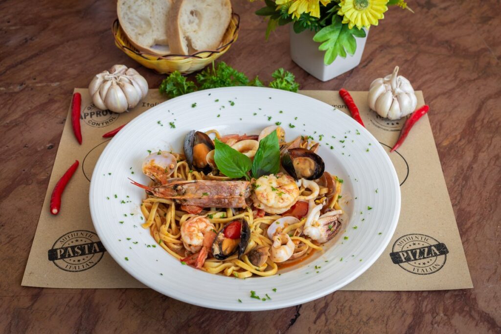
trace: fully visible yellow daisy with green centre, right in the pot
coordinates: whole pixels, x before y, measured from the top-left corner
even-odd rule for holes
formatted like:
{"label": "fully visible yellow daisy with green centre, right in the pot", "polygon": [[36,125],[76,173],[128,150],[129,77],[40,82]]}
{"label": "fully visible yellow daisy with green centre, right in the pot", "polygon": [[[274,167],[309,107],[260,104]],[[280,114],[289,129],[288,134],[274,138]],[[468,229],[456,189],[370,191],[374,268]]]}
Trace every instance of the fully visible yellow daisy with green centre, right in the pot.
{"label": "fully visible yellow daisy with green centre, right in the pot", "polygon": [[388,0],[342,0],[339,4],[339,15],[343,16],[343,23],[352,29],[357,26],[369,28],[377,26],[378,20],[384,19],[383,13],[388,10]]}

